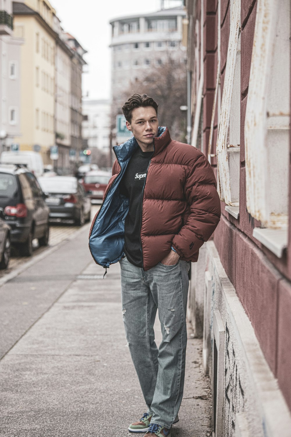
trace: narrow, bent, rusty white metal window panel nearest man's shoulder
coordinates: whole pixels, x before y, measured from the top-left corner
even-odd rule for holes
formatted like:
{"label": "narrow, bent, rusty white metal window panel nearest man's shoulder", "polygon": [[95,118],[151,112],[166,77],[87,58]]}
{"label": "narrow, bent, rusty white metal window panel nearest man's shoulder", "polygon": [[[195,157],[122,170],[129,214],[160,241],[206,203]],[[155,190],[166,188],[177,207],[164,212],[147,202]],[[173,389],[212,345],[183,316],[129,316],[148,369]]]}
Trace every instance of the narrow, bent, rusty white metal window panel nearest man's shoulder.
{"label": "narrow, bent, rusty white metal window panel nearest man's shoulder", "polygon": [[[229,150],[227,146],[229,137],[229,119],[231,114],[233,83],[240,37],[240,0],[231,2],[229,44],[226,59],[226,73],[223,85],[223,96],[220,108],[219,127],[216,142],[216,156],[218,168],[219,196],[226,205],[238,205],[238,198],[231,195],[231,178],[229,173]],[[240,67],[240,66],[239,66]],[[239,146],[239,141],[236,146]],[[236,168],[236,166],[234,166]],[[239,172],[238,172],[239,177]]]}

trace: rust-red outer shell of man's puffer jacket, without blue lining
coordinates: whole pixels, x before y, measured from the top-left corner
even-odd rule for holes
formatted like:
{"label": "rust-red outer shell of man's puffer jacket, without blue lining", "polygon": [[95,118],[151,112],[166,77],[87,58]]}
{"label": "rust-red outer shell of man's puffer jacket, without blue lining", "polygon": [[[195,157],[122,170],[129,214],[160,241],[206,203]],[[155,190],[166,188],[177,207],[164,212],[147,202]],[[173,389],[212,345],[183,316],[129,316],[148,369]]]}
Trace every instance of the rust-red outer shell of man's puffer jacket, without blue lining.
{"label": "rust-red outer shell of man's puffer jacket, without blue lining", "polygon": [[[113,175],[120,171],[116,160]],[[144,187],[140,229],[144,270],[160,262],[171,246],[182,260],[197,261],[199,248],[219,218],[216,179],[208,160],[195,147],[171,140],[167,128],[154,138]]]}

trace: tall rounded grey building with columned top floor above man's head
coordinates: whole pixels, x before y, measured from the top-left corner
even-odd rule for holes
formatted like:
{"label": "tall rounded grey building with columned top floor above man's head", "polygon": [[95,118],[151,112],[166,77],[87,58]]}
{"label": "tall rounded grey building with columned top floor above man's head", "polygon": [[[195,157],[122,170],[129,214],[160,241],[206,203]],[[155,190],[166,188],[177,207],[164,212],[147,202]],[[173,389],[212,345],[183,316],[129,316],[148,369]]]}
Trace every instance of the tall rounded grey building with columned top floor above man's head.
{"label": "tall rounded grey building with columned top floor above man's head", "polygon": [[120,114],[123,94],[130,90],[131,83],[166,63],[169,58],[185,61],[183,20],[184,8],[174,7],[110,21],[111,99],[114,115]]}

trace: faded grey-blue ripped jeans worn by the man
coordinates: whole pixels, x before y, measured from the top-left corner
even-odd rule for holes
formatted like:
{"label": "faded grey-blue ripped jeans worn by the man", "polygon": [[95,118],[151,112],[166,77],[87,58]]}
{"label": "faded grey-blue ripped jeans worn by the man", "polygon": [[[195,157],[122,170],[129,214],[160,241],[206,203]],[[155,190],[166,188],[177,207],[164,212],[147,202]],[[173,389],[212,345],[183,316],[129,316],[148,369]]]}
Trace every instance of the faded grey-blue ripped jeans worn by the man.
{"label": "faded grey-blue ripped jeans worn by the man", "polygon": [[[148,271],[120,261],[123,322],[151,423],[170,428],[183,396],[189,263]],[[154,341],[157,308],[162,342]]]}

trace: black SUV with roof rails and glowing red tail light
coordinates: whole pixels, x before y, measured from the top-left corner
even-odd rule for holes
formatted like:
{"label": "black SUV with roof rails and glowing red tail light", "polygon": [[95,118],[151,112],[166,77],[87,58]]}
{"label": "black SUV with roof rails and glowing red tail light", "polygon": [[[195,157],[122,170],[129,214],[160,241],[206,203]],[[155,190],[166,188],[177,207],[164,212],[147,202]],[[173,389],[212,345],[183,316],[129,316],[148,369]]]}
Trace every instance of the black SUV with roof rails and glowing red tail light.
{"label": "black SUV with roof rails and glowing red tail light", "polygon": [[34,175],[21,165],[0,164],[0,208],[10,226],[11,243],[25,256],[32,255],[32,240],[48,244],[49,209]]}

